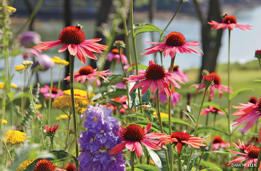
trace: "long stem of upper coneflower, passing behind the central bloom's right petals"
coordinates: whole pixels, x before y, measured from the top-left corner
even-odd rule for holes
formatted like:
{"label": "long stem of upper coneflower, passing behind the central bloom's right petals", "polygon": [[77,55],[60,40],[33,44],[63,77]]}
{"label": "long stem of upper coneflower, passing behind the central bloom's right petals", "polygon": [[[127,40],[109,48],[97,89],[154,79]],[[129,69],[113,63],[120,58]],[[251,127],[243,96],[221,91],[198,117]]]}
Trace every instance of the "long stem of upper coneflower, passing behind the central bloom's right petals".
{"label": "long stem of upper coneflower, passing behind the central bloom's right petals", "polygon": [[[174,58],[171,58],[171,67],[169,69],[170,73],[173,73],[174,61],[175,61],[176,53]],[[172,85],[169,85],[169,88],[172,89]],[[168,132],[171,134],[171,96],[168,97]],[[172,153],[172,146],[169,143],[169,153],[170,153],[170,171],[173,170],[173,153]]]}

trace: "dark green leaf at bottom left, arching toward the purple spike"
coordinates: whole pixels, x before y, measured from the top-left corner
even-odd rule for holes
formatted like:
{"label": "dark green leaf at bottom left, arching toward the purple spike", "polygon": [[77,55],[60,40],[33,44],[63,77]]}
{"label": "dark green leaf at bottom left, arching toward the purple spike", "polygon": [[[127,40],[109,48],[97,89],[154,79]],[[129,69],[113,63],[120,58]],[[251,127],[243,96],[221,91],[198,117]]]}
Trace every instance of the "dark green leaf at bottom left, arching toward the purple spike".
{"label": "dark green leaf at bottom left, arching toward the purple spike", "polygon": [[48,157],[48,158],[38,158],[35,161],[33,161],[30,165],[28,165],[23,171],[33,171],[35,164],[41,160],[41,159],[47,159],[49,161],[51,161],[52,163],[58,163],[61,161],[66,161],[70,158],[72,158],[75,162],[76,162],[76,158],[74,155],[70,154],[67,151],[64,150],[52,150],[49,153],[51,153],[52,155],[54,155],[54,157]]}

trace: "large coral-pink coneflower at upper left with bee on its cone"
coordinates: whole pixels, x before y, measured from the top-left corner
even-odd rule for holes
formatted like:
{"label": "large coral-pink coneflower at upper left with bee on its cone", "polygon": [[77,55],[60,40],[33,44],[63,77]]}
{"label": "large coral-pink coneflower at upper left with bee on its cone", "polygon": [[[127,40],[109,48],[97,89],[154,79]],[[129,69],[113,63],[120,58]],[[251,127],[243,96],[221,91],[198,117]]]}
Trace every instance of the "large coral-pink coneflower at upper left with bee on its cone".
{"label": "large coral-pink coneflower at upper left with bee on its cone", "polygon": [[108,47],[96,43],[102,40],[101,38],[85,40],[84,32],[75,26],[65,27],[61,31],[58,39],[58,41],[40,42],[41,44],[34,46],[34,48],[36,48],[36,50],[45,51],[46,49],[63,45],[63,47],[58,50],[59,53],[64,52],[68,48],[71,55],[76,55],[79,60],[85,64],[86,56],[97,60],[93,52],[102,53],[101,50],[107,50],[106,48]]}

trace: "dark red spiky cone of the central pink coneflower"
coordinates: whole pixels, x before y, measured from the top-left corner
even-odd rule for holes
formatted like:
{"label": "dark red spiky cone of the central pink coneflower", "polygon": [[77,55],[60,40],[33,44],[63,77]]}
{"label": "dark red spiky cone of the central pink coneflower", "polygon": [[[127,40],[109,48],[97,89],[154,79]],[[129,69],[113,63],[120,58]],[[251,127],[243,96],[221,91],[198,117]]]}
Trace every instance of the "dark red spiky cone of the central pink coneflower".
{"label": "dark red spiky cone of the central pink coneflower", "polygon": [[145,71],[145,77],[149,80],[158,80],[164,78],[166,75],[165,69],[162,66],[153,64],[150,65]]}

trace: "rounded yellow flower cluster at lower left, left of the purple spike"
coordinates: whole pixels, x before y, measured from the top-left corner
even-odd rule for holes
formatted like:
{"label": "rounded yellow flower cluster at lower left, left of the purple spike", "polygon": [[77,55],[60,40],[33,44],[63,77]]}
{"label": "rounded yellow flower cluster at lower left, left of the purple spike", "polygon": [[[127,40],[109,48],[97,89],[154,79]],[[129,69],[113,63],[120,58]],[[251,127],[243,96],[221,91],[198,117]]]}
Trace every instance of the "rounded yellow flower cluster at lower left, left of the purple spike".
{"label": "rounded yellow flower cluster at lower left, left of the purple spike", "polygon": [[24,141],[26,134],[17,130],[8,130],[3,133],[4,141],[8,144],[20,144]]}

